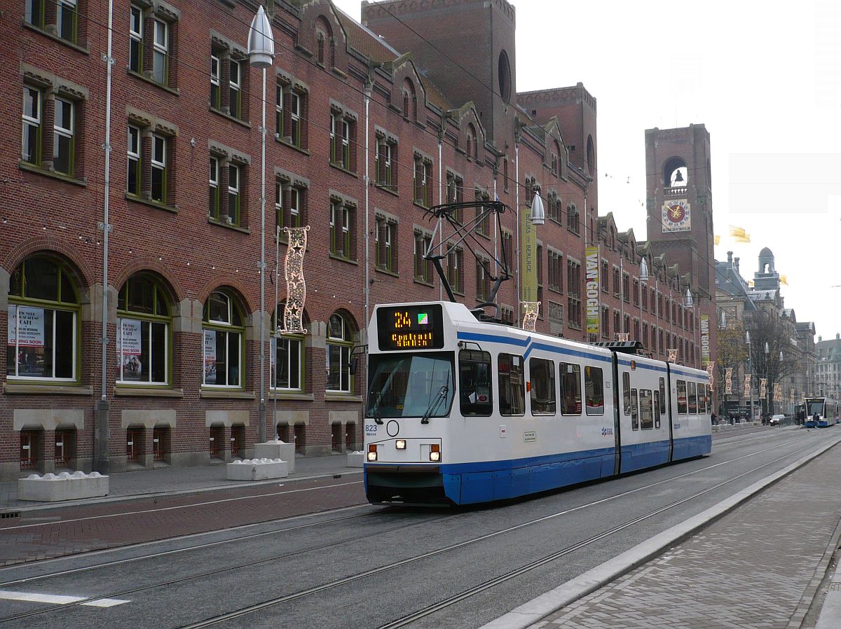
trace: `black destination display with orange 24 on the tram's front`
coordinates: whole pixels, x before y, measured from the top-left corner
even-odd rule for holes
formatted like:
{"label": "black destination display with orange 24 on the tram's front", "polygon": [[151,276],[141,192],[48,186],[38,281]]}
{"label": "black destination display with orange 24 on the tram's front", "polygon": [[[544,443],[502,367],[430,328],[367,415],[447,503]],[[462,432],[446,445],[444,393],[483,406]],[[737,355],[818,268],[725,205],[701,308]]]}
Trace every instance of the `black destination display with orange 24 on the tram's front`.
{"label": "black destination display with orange 24 on the tram's front", "polygon": [[444,346],[441,304],[380,307],[377,330],[381,352],[441,349]]}

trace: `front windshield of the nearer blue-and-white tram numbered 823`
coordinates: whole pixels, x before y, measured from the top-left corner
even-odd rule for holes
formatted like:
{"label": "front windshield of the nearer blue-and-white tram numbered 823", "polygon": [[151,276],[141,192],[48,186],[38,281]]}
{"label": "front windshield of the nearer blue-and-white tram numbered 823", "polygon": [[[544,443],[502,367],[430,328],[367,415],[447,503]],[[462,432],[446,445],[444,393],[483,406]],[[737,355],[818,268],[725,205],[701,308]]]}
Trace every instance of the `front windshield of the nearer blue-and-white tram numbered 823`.
{"label": "front windshield of the nearer blue-and-white tram numbered 823", "polygon": [[455,386],[452,353],[372,354],[368,417],[446,417]]}

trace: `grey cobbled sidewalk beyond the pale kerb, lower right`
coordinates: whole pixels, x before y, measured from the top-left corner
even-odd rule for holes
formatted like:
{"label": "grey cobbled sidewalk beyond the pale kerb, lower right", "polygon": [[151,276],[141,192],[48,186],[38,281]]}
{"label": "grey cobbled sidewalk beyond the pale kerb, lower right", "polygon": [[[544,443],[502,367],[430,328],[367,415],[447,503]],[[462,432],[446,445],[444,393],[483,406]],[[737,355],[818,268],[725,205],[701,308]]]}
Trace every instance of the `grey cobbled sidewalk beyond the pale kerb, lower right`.
{"label": "grey cobbled sidewalk beyond the pale kerb, lower right", "polygon": [[814,626],[807,611],[841,530],[837,478],[841,447],[530,629]]}

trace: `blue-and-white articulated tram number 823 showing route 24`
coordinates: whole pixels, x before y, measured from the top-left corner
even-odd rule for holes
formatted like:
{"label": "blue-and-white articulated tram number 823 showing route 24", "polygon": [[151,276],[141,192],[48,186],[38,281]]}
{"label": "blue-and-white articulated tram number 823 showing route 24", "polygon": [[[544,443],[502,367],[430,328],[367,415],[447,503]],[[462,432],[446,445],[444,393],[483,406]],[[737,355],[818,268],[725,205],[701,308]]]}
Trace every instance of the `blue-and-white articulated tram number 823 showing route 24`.
{"label": "blue-and-white articulated tram number 823 showing route 24", "polygon": [[368,339],[375,504],[502,500],[711,451],[697,369],[481,322],[452,302],[380,305]]}

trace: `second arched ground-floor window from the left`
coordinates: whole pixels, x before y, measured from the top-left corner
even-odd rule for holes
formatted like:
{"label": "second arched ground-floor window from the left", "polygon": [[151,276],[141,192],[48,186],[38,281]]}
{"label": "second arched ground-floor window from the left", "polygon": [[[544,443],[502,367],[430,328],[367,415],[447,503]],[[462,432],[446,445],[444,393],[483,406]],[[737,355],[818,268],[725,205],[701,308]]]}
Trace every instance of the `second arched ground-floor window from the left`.
{"label": "second arched ground-floor window from the left", "polygon": [[170,383],[172,315],[155,279],[128,279],[117,298],[117,382]]}

